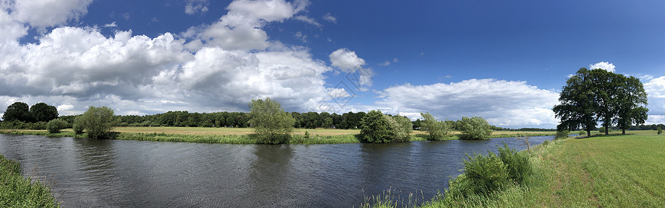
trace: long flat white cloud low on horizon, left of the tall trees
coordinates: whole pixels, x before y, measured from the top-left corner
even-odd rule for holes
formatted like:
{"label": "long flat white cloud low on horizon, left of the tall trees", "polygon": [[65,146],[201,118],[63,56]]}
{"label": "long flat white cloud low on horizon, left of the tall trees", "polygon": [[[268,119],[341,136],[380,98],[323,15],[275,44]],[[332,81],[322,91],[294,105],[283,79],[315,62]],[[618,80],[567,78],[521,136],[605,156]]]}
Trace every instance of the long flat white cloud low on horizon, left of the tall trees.
{"label": "long flat white cloud low on horizon, left of the tall trees", "polygon": [[551,110],[558,94],[526,82],[471,79],[459,83],[397,85],[380,92],[379,105],[391,112],[430,112],[440,119],[482,116],[492,125],[504,127],[542,126],[558,123]]}

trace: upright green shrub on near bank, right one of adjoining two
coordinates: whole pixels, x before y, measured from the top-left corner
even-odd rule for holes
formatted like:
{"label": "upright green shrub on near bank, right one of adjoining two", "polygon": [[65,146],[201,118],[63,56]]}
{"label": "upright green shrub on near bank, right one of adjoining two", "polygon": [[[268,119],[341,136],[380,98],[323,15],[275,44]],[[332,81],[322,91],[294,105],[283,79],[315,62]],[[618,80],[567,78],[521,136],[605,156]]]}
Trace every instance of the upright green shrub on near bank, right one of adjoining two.
{"label": "upright green shrub on near bank, right one of adjoining two", "polygon": [[[499,147],[497,146],[497,148]],[[524,178],[531,173],[531,162],[528,156],[517,153],[515,149],[508,148],[506,143],[503,143],[503,148],[499,148],[499,157],[501,157],[501,162],[508,166],[510,178],[515,182],[521,184],[524,182]]]}

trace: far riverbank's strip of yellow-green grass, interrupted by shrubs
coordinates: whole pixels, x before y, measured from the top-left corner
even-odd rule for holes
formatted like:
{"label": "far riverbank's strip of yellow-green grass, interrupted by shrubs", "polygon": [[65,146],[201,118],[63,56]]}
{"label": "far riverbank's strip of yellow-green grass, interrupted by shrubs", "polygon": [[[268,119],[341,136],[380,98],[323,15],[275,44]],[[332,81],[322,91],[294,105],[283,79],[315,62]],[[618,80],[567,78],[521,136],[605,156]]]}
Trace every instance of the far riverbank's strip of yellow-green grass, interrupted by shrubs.
{"label": "far riverbank's strip of yellow-green grass, interrupted by shrubs", "polygon": [[[305,135],[305,132],[309,136]],[[345,144],[359,143],[356,134],[359,130],[336,130],[336,129],[295,129],[288,144]],[[114,139],[139,140],[139,141],[177,141],[211,144],[257,144],[252,136],[252,128],[186,128],[186,127],[119,127],[114,130]],[[40,135],[46,137],[74,137],[85,138],[76,135],[71,129],[51,134],[46,130],[0,130],[0,134],[14,135]],[[444,140],[459,139],[460,132]],[[518,137],[528,135],[530,137],[550,136],[555,132],[493,132],[491,138]],[[425,141],[429,135],[426,132],[414,131],[411,141]]]}

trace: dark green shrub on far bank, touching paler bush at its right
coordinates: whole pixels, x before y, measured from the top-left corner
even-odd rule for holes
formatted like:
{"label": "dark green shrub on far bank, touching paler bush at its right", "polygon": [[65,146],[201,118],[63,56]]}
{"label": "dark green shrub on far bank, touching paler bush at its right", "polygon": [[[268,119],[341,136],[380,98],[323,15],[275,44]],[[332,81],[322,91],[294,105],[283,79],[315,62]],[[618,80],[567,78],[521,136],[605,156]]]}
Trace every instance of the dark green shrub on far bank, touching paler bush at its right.
{"label": "dark green shrub on far bank, touching paler bush at its right", "polygon": [[386,116],[380,110],[372,110],[360,121],[361,130],[358,140],[363,143],[390,143],[395,138],[395,131]]}

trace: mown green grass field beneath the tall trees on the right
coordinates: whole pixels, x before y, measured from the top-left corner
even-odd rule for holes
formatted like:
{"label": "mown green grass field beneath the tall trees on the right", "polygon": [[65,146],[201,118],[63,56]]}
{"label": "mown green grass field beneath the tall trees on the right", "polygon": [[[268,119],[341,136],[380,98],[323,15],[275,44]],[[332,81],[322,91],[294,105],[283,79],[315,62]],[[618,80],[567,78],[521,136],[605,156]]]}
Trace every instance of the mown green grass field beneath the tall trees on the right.
{"label": "mown green grass field beneath the tall trees on the right", "polygon": [[[542,145],[525,185],[459,207],[665,207],[665,136],[629,132]],[[442,207],[433,201],[423,207]]]}

